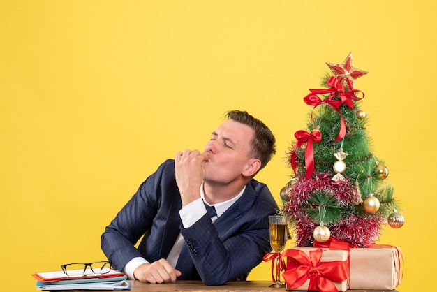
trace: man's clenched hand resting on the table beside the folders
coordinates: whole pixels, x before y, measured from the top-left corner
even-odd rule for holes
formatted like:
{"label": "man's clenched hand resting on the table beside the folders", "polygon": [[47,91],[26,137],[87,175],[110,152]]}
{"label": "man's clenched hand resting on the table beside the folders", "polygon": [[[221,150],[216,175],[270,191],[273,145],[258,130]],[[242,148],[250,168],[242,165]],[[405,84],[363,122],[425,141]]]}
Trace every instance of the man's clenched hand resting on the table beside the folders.
{"label": "man's clenched hand resting on the table beside the folders", "polygon": [[176,278],[181,275],[181,272],[173,268],[164,258],[161,258],[154,263],[143,263],[133,271],[133,275],[140,282],[161,284],[168,282],[175,283]]}

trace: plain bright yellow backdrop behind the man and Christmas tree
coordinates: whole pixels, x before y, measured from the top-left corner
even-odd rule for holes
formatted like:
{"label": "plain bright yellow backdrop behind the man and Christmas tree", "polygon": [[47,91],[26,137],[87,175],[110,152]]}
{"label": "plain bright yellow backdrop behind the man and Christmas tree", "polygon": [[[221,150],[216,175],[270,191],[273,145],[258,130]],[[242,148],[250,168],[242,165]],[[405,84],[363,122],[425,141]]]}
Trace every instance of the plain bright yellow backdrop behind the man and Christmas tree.
{"label": "plain bright yellow backdrop behind the man and Christmas tree", "polygon": [[[311,109],[302,98],[349,52],[369,71],[356,87],[405,210],[405,226],[378,243],[403,250],[400,291],[429,289],[435,13],[434,1],[404,0],[2,1],[0,290],[35,291],[33,272],[104,259],[100,235],[142,180],[202,149],[226,110],[276,135],[257,178],[279,200]],[[269,269],[249,279],[269,281]]]}

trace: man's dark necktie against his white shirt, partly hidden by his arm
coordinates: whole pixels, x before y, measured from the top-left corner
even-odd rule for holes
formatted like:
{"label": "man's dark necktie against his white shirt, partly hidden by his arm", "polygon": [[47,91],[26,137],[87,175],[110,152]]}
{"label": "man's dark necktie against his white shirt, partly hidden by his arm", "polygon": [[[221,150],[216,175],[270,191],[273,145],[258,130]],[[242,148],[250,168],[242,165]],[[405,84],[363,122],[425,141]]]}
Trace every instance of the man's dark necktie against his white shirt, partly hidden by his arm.
{"label": "man's dark necktie against his white shirt, partly hidden by his arm", "polygon": [[[207,214],[209,215],[210,218],[217,216],[216,208],[209,206],[207,204],[205,204],[205,207],[207,208]],[[188,244],[190,245],[190,247],[188,247]],[[191,259],[190,249],[194,249],[193,242],[191,242],[191,240],[188,240],[188,244],[187,242],[184,242],[184,245],[182,245],[181,253],[179,254],[179,258],[177,258],[176,269],[182,272],[181,277],[179,277],[178,279],[200,280],[198,272],[197,270],[195,270],[193,260]]]}

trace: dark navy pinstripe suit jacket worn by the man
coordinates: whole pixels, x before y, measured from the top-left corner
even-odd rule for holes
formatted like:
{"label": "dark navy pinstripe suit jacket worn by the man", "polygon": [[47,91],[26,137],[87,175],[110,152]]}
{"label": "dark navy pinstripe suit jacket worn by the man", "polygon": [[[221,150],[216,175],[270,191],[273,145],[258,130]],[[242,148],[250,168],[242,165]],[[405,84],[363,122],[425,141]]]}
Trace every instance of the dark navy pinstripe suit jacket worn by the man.
{"label": "dark navy pinstripe suit jacket worn by the man", "polygon": [[[137,256],[149,262],[166,258],[182,233],[195,247],[192,258],[202,281],[216,285],[246,274],[271,251],[267,217],[278,207],[265,184],[249,182],[242,197],[215,224],[205,214],[190,228],[182,228],[181,206],[175,163],[168,159],[106,227],[103,252],[122,270]],[[143,234],[137,249],[134,244]]]}

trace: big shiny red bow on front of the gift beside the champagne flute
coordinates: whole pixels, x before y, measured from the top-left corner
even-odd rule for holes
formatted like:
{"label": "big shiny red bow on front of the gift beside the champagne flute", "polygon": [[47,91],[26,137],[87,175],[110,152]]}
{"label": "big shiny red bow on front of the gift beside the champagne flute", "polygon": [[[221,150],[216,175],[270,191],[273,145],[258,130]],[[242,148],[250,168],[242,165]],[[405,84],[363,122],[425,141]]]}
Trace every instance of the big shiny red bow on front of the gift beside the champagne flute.
{"label": "big shiny red bow on front of the gift beside the champagne flute", "polygon": [[333,282],[348,279],[348,274],[342,261],[320,262],[323,250],[309,251],[307,256],[304,251],[287,249],[282,256],[288,256],[286,272],[282,277],[287,283],[287,288],[292,290],[302,286],[309,279],[308,291],[334,292],[338,291]]}

